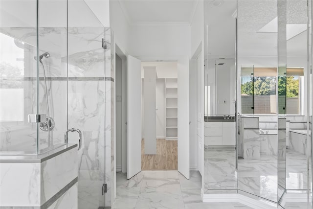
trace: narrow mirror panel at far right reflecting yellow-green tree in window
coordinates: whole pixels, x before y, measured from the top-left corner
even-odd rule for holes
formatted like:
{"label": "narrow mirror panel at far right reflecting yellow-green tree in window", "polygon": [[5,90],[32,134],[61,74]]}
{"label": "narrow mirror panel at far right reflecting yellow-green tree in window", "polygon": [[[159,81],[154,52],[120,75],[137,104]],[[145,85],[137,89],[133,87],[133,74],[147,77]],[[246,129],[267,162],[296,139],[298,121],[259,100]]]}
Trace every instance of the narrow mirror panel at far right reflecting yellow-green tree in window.
{"label": "narrow mirror panel at far right reflecting yellow-green tree in window", "polygon": [[311,152],[307,142],[307,139],[310,139],[307,138],[308,108],[310,108],[310,102],[308,103],[310,72],[307,64],[308,8],[307,2],[295,0],[287,0],[286,8],[287,70],[284,77],[286,78],[285,116],[287,118],[286,189],[288,192],[296,192],[308,189],[310,184],[308,157]]}

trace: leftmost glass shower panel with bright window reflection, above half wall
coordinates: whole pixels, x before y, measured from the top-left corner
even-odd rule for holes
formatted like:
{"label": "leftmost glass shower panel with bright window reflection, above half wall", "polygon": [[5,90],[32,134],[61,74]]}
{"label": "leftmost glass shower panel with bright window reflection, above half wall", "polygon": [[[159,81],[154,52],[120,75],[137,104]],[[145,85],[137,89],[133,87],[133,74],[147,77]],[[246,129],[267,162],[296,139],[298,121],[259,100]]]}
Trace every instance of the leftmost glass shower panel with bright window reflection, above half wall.
{"label": "leftmost glass shower panel with bright window reflection, above half wall", "polygon": [[[17,3],[19,4],[17,6]],[[37,154],[37,1],[0,1],[0,154]]]}

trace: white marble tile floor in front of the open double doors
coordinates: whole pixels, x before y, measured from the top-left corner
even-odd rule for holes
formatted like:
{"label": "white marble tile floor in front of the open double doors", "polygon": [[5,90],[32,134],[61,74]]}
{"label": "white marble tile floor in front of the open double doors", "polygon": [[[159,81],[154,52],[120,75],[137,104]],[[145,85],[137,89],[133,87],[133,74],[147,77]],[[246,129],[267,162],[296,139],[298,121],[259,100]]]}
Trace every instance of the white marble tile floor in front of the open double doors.
{"label": "white marble tile floor in front of the open double doors", "polygon": [[187,180],[178,171],[141,171],[127,180],[116,173],[116,200],[112,209],[251,209],[241,203],[202,203],[201,175]]}

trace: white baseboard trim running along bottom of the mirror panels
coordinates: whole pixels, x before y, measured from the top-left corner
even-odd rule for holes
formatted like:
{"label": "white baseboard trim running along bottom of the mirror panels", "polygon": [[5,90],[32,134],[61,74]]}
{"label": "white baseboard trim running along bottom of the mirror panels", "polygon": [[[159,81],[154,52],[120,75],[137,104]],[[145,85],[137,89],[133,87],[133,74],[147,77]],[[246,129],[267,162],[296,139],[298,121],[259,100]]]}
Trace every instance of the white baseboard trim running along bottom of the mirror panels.
{"label": "white baseboard trim running along bottom of the mirror panels", "polygon": [[[226,203],[226,202],[239,202],[253,209],[276,209],[277,204],[266,201],[262,198],[259,200],[246,197],[242,194],[203,194],[201,189],[201,196],[204,203]],[[275,207],[276,206],[276,207]]]}

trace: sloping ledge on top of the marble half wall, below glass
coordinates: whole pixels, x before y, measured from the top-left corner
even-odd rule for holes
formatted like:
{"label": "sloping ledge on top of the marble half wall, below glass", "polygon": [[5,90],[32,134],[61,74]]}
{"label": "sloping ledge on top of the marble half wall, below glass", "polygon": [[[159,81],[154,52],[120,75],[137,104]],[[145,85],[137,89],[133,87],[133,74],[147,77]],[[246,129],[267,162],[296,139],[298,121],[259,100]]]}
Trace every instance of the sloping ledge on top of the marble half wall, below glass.
{"label": "sloping ledge on top of the marble half wall, below glass", "polygon": [[0,155],[0,163],[43,163],[75,147],[77,144],[65,144],[40,155]]}

